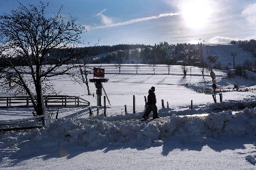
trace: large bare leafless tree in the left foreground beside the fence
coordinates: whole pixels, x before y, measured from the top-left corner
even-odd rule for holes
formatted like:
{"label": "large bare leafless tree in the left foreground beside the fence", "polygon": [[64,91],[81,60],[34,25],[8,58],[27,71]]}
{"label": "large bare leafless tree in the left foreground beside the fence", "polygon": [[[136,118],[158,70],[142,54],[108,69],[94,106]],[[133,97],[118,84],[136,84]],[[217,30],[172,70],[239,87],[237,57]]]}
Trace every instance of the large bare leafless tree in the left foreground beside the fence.
{"label": "large bare leafless tree in the left foreground beside the fence", "polygon": [[[5,88],[5,92],[14,90],[15,95],[29,95],[38,116],[46,114],[43,92],[49,88],[48,78],[70,74],[71,69],[78,67],[75,63],[79,63],[85,50],[76,45],[81,44],[85,30],[76,25],[76,18],[63,18],[62,7],[46,17],[46,7],[48,3],[28,7],[20,3],[18,10],[0,16],[0,86],[3,89],[12,82],[14,86]],[[53,58],[47,58],[53,51],[58,53],[55,63]]]}

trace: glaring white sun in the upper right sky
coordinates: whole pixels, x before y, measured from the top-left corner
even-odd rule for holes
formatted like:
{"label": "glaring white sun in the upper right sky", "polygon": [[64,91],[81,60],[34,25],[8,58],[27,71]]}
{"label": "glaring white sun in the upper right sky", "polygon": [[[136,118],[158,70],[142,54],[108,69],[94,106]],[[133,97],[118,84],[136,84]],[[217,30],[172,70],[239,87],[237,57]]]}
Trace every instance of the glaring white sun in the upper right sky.
{"label": "glaring white sun in the upper right sky", "polygon": [[201,29],[209,22],[212,7],[209,1],[194,0],[182,5],[182,16],[186,25],[192,29]]}

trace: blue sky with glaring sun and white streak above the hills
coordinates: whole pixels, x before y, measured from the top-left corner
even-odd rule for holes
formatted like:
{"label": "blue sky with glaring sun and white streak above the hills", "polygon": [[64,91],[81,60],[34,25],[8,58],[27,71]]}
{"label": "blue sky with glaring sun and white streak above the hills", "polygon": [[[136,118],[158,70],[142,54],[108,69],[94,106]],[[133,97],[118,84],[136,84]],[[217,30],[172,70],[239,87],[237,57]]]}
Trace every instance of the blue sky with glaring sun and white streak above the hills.
{"label": "blue sky with glaring sun and white streak above the hills", "polygon": [[[18,8],[16,0],[0,2],[0,14]],[[82,38],[90,46],[256,39],[255,0],[52,0],[48,14],[61,5],[63,16],[76,17],[87,29]]]}

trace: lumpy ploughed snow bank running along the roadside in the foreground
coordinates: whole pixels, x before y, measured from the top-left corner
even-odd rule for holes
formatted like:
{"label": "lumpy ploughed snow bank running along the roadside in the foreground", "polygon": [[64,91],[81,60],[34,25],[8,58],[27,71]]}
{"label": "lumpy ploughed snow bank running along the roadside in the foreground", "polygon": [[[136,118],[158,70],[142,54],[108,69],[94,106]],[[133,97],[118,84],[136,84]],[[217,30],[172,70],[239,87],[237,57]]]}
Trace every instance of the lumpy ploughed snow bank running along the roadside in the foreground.
{"label": "lumpy ploughed snow bank running along the roadside in the foreground", "polygon": [[244,109],[198,116],[170,116],[170,120],[134,121],[93,118],[61,118],[42,129],[0,133],[0,148],[55,147],[104,143],[130,143],[151,147],[169,137],[189,138],[196,143],[218,137],[242,137],[256,133],[256,109]]}

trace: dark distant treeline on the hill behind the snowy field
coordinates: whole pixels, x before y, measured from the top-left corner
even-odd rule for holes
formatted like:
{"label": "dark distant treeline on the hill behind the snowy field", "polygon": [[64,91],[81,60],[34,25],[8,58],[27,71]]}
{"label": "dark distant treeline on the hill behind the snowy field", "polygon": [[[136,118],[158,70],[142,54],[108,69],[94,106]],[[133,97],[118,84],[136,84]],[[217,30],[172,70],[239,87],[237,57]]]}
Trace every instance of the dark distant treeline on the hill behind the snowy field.
{"label": "dark distant treeline on the hill behind the snowy field", "polygon": [[[200,66],[200,46],[198,44],[168,44],[166,41],[154,46],[143,44],[119,44],[115,46],[90,46],[77,48],[72,64],[76,63],[117,63],[117,64],[150,64],[150,65],[195,65]],[[42,56],[44,65],[56,65],[65,62],[70,55],[67,49],[52,49]],[[100,57],[97,57],[99,56]],[[88,60],[91,59],[91,61]],[[13,56],[15,65],[26,66],[23,56]],[[32,63],[33,56],[31,56]],[[71,61],[65,64],[71,64]],[[4,65],[0,67],[6,67]]]}

